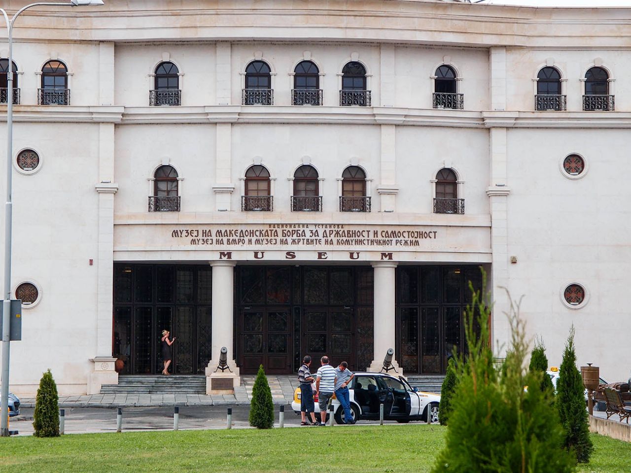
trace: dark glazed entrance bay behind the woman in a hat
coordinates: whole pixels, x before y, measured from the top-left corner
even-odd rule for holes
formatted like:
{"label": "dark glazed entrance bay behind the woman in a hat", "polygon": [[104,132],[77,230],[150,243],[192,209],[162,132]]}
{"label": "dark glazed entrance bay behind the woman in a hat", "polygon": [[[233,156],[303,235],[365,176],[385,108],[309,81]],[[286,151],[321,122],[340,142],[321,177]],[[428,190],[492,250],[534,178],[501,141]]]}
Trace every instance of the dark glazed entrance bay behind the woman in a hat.
{"label": "dark glazed entrance bay behind the woman in a hat", "polygon": [[162,330],[177,340],[169,371],[203,374],[211,357],[212,269],[167,264],[114,264],[112,356],[122,375],[162,372]]}

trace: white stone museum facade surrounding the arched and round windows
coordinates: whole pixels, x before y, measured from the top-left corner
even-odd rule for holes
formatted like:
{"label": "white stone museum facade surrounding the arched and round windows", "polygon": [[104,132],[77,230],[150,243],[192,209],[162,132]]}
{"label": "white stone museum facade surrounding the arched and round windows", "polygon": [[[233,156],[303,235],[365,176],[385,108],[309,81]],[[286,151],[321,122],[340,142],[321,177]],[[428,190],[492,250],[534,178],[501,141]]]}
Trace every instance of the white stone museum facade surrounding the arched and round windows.
{"label": "white stone museum facade surrounding the arched and round windows", "polygon": [[[5,8],[26,3],[9,0]],[[211,264],[216,282],[233,271],[221,252],[232,252],[237,265],[348,265],[358,252],[358,264],[375,267],[375,289],[377,281],[386,288],[375,290],[377,365],[396,344],[396,265],[483,264],[499,356],[507,342],[505,287],[514,298],[525,295],[522,315],[545,340],[551,364],[560,363],[574,324],[579,363],[599,365],[609,380],[627,379],[631,190],[620,165],[631,127],[631,9],[430,0],[185,4],[107,0],[102,8],[33,9],[16,22],[12,284],[31,282],[40,297],[23,311],[23,341],[11,344],[13,392],[32,394],[47,368],[64,394],[115,382],[114,262]],[[0,38],[0,58],[6,49]],[[51,59],[68,68],[68,106],[37,105],[40,71]],[[305,59],[319,68],[321,106],[292,106],[293,70]],[[271,69],[271,106],[241,105],[245,67],[254,60]],[[150,107],[155,69],[165,61],[179,69],[181,105]],[[349,61],[367,71],[370,107],[339,106]],[[432,108],[442,64],[456,73],[462,110]],[[582,110],[594,66],[608,71],[615,111]],[[559,71],[567,110],[534,110],[542,67]],[[0,105],[0,143],[4,117]],[[27,148],[40,157],[33,173],[16,164]],[[586,163],[581,178],[563,170],[571,154]],[[271,175],[272,212],[241,211],[245,171],[254,164]],[[303,164],[319,173],[322,212],[291,211],[293,173]],[[161,165],[177,170],[179,212],[148,212]],[[339,211],[349,165],[365,171],[370,213]],[[433,213],[441,168],[456,173],[464,214]],[[293,223],[436,233],[410,248],[192,245],[172,234]],[[581,305],[564,301],[572,283],[586,289]],[[216,317],[232,313],[231,290],[225,282],[213,287],[213,361],[233,336],[232,320],[222,325]],[[232,347],[229,355],[233,363]]]}

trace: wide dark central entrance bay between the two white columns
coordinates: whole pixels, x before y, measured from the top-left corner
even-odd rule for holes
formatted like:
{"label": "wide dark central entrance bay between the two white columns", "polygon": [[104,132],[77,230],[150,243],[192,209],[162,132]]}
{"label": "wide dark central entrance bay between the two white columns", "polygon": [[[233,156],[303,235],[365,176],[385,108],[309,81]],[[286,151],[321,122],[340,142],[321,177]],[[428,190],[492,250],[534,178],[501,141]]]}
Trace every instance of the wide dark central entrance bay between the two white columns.
{"label": "wide dark central entrance bay between the two white columns", "polygon": [[237,365],[254,374],[295,373],[302,357],[327,355],[365,370],[373,350],[373,270],[363,267],[237,266]]}

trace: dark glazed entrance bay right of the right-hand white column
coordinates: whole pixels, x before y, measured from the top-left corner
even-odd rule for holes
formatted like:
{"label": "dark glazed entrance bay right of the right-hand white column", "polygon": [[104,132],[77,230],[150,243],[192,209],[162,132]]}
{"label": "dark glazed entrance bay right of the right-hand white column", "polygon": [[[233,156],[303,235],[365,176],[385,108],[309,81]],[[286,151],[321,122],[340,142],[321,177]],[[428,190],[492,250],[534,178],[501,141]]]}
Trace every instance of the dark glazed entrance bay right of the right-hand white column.
{"label": "dark glazed entrance bay right of the right-hand white column", "polygon": [[407,374],[444,374],[465,349],[464,310],[469,281],[481,289],[480,266],[397,268],[396,359]]}

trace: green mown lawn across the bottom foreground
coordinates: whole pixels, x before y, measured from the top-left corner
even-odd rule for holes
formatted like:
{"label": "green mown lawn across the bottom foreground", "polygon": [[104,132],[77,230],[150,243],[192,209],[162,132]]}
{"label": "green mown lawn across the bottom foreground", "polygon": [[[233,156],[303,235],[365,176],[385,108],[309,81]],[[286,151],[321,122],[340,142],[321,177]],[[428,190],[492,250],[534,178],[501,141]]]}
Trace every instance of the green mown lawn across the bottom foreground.
{"label": "green mown lawn across the bottom foreground", "polygon": [[[431,470],[444,434],[416,424],[0,438],[0,471],[422,473]],[[578,472],[629,471],[631,444],[592,438],[592,462]]]}

